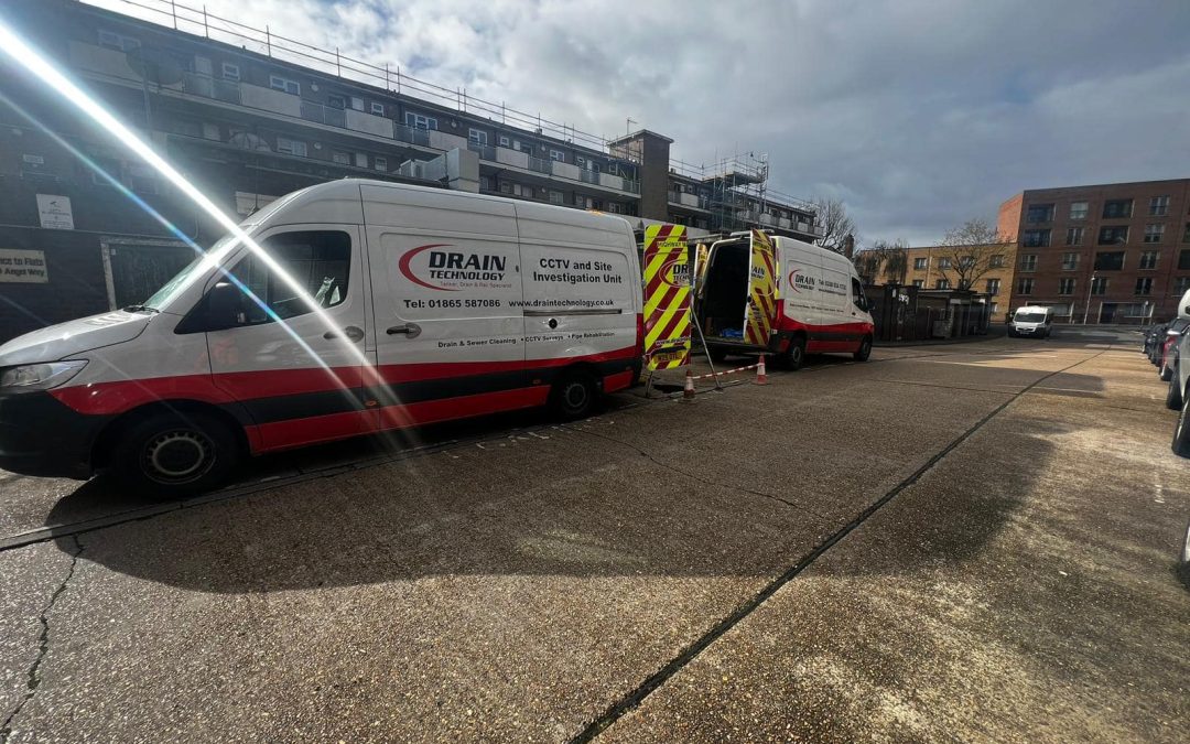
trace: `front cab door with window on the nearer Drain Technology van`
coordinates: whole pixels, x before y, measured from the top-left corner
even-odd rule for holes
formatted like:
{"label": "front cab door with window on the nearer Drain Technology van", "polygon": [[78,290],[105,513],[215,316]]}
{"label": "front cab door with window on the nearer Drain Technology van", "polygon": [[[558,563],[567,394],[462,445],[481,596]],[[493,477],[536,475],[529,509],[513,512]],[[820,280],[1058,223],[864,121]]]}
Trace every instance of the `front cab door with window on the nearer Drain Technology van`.
{"label": "front cab door with window on the nearer Drain Technology van", "polygon": [[256,239],[271,261],[243,249],[230,273],[259,301],[243,298],[238,326],[207,332],[215,386],[253,419],[256,450],[367,433],[359,227],[286,225]]}

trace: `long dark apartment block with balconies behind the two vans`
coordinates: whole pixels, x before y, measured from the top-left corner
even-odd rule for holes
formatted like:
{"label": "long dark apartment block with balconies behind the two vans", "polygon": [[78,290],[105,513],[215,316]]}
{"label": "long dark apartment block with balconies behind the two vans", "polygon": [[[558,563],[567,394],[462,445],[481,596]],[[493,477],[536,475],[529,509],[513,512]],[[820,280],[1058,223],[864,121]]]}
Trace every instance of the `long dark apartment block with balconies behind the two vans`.
{"label": "long dark apartment block with balconies behind the two vans", "polygon": [[[768,186],[764,160],[688,167],[671,161],[664,135],[588,135],[271,35],[264,20],[215,18],[198,0],[138,0],[152,20],[76,0],[11,5],[6,23],[230,214],[367,177],[600,210],[638,226],[821,236],[808,202]],[[140,302],[189,263],[187,240],[220,237],[58,93],[4,69],[15,105],[0,104],[0,342]]]}

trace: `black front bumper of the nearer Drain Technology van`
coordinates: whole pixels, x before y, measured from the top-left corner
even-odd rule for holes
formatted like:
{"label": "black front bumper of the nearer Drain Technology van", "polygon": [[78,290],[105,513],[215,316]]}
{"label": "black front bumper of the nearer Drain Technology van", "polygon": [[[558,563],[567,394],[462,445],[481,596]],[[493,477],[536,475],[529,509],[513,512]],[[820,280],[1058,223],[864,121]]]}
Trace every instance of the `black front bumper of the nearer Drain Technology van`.
{"label": "black front bumper of the nearer Drain Technology van", "polygon": [[79,413],[46,392],[0,394],[0,469],[87,480],[92,445],[109,418]]}

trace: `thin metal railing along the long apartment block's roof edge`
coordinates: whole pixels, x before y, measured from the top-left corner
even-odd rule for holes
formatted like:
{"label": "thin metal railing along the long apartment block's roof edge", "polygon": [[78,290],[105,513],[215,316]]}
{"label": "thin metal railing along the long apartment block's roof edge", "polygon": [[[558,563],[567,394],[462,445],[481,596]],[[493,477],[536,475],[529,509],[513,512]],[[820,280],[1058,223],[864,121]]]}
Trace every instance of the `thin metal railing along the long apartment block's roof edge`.
{"label": "thin metal railing along the long apartment block's roof edge", "polygon": [[[87,2],[87,0],[80,0]],[[240,46],[249,51],[263,54],[274,60],[301,64],[345,80],[353,80],[369,86],[382,87],[399,95],[421,99],[439,106],[457,108],[464,113],[475,113],[489,119],[528,130],[541,136],[570,140],[581,146],[607,154],[606,137],[576,129],[574,125],[553,121],[515,108],[503,102],[496,104],[468,94],[466,88],[446,88],[425,80],[412,77],[401,71],[400,65],[389,63],[376,64],[339,51],[322,49],[296,39],[273,33],[268,25],[257,29],[227,18],[209,13],[206,7],[192,7],[176,0],[118,0],[142,11],[134,17],[159,26],[171,26],[176,31],[186,31],[208,39],[214,39]],[[95,5],[90,2],[89,5]],[[132,13],[129,13],[132,14]]]}

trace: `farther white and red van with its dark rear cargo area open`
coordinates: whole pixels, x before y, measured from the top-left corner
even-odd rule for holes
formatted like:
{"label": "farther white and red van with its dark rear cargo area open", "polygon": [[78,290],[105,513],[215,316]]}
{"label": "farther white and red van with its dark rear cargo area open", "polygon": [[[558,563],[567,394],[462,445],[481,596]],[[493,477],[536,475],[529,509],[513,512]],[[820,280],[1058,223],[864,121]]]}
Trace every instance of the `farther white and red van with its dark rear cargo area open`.
{"label": "farther white and red van with its dark rear cargo area open", "polygon": [[866,361],[872,351],[872,317],[851,261],[795,238],[774,236],[770,240],[778,301],[766,345],[744,339],[752,257],[749,233],[713,243],[700,258],[694,310],[712,358],[772,354],[791,369],[800,368],[807,354],[843,352]]}

